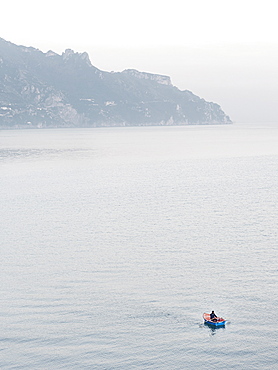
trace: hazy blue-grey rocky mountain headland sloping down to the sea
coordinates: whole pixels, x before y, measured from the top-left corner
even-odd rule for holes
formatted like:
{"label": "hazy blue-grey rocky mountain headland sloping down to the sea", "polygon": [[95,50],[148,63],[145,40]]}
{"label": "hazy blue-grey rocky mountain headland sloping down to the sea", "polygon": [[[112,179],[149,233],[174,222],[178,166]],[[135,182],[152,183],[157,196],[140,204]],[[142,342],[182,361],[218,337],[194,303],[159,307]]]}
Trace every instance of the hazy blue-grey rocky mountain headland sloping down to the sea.
{"label": "hazy blue-grey rocky mountain headland sloping down to the sea", "polygon": [[109,73],[87,53],[43,53],[0,39],[0,126],[82,127],[231,123],[220,106],[168,76]]}

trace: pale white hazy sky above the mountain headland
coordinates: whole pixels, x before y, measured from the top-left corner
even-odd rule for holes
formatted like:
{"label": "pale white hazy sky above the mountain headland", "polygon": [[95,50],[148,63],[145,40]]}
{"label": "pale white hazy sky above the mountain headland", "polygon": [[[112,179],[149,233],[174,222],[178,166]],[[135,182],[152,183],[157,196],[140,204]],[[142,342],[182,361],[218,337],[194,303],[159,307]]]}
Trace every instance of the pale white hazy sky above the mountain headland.
{"label": "pale white hazy sky above the mountain headland", "polygon": [[9,0],[0,37],[99,69],[165,74],[221,105],[235,122],[278,119],[275,0]]}

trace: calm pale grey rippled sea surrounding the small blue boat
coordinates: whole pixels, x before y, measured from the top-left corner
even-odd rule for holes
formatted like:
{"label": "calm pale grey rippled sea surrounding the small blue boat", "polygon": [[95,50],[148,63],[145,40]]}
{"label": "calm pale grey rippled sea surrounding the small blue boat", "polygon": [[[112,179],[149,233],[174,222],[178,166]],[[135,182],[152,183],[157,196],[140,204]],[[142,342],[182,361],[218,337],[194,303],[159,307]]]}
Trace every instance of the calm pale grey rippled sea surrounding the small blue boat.
{"label": "calm pale grey rippled sea surrounding the small blue boat", "polygon": [[1,369],[278,368],[278,125],[0,131],[0,157]]}

